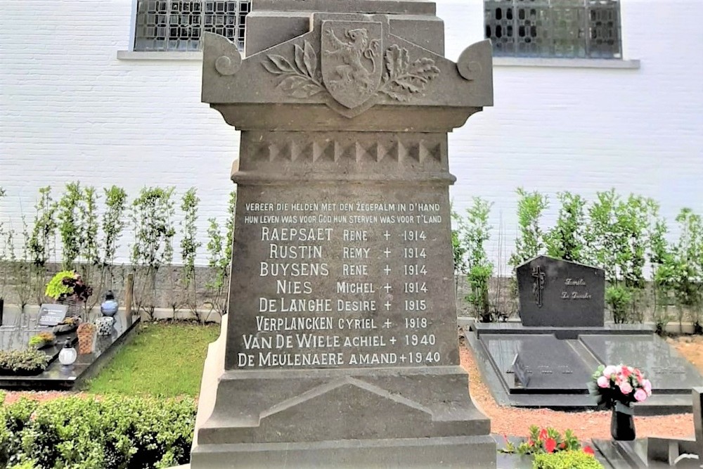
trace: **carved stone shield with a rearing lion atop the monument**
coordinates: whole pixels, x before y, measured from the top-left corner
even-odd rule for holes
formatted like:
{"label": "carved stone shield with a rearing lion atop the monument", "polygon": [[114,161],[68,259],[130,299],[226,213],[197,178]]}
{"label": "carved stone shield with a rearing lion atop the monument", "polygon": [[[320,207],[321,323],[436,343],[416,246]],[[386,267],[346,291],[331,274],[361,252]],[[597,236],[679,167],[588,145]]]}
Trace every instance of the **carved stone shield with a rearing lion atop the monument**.
{"label": "carved stone shield with a rearing lion atop the monument", "polygon": [[322,78],[330,95],[344,107],[356,108],[378,91],[381,42],[381,23],[322,22]]}

